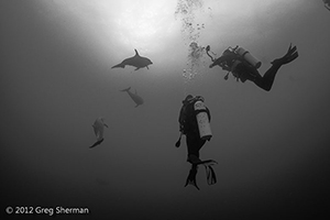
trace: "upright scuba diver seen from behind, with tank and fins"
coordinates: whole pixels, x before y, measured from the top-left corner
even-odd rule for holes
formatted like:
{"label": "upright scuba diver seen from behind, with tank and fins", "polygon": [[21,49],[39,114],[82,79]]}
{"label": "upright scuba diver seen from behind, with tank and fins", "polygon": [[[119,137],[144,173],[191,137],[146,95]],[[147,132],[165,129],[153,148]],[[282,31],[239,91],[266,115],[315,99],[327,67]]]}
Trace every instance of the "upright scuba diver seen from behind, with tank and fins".
{"label": "upright scuba diver seen from behind, with tank and fins", "polygon": [[206,143],[210,141],[212,133],[210,130],[211,114],[207,107],[204,106],[204,98],[200,96],[193,97],[188,95],[183,101],[183,107],[179,113],[179,131],[180,136],[175,146],[180,146],[182,135],[186,135],[186,144],[188,150],[187,162],[191,164],[186,185],[193,185],[198,190],[199,187],[196,183],[196,175],[198,165],[204,165],[207,173],[207,182],[209,185],[217,183],[217,177],[212,165],[217,164],[213,160],[201,161],[199,158],[199,151]]}

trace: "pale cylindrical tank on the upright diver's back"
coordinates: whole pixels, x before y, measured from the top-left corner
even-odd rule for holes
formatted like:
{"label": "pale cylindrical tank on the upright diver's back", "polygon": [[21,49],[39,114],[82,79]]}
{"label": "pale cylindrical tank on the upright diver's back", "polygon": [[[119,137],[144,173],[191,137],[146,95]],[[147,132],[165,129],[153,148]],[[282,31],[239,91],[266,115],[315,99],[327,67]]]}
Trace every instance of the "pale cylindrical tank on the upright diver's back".
{"label": "pale cylindrical tank on the upright diver's back", "polygon": [[196,112],[200,139],[210,141],[210,139],[212,138],[210,120],[207,113],[207,108],[205,107],[201,99],[198,99],[194,103],[194,110]]}

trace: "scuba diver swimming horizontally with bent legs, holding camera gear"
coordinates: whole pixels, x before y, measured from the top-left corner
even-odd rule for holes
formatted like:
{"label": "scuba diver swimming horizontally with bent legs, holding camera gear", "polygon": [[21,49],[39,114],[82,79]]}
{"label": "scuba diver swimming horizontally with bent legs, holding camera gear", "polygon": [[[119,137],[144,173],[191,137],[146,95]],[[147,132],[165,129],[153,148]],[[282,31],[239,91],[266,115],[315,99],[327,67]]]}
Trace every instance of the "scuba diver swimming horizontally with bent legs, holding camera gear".
{"label": "scuba diver swimming horizontally with bent legs, holding camera gear", "polygon": [[298,57],[297,47],[292,47],[292,44],[287,51],[287,53],[277,59],[274,59],[271,64],[271,68],[261,76],[257,68],[261,66],[261,62],[258,62],[255,57],[253,57],[248,51],[242,47],[229,47],[227,48],[219,58],[213,58],[210,54],[210,46],[206,47],[207,54],[211,57],[213,62],[209,67],[218,65],[222,69],[228,70],[228,74],[224,76],[224,79],[228,79],[229,73],[239,79],[242,82],[246,80],[253,81],[260,88],[270,91],[272,89],[275,76],[282,65],[288,64]]}

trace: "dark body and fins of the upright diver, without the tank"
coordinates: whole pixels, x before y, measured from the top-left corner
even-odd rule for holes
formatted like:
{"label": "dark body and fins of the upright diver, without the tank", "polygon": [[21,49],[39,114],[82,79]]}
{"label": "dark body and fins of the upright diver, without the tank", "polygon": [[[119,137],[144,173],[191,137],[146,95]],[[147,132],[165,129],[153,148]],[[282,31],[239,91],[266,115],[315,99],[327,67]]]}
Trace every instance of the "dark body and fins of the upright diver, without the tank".
{"label": "dark body and fins of the upright diver, without the tank", "polygon": [[[196,183],[198,165],[205,165],[208,184],[212,185],[217,183],[217,177],[211,165],[217,164],[217,162],[212,160],[201,161],[199,158],[199,151],[204,146],[207,140],[201,139],[199,134],[199,129],[198,129],[198,123],[196,118],[198,111],[194,109],[194,105],[196,103],[196,101],[204,101],[204,98],[200,96],[193,97],[191,95],[188,95],[186,97],[186,99],[183,101],[183,107],[180,109],[178,121],[179,121],[180,138],[183,134],[186,135],[186,144],[188,151],[187,162],[191,164],[191,168],[187,177],[185,187],[188,184],[190,184],[195,186],[197,189],[199,189]],[[210,121],[211,114],[209,109],[206,108],[205,111],[207,112],[208,120]],[[176,143],[177,147],[180,145],[180,138]],[[208,138],[208,141],[210,141],[210,138]]]}

